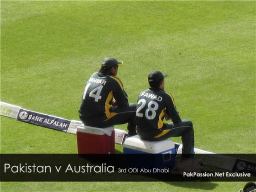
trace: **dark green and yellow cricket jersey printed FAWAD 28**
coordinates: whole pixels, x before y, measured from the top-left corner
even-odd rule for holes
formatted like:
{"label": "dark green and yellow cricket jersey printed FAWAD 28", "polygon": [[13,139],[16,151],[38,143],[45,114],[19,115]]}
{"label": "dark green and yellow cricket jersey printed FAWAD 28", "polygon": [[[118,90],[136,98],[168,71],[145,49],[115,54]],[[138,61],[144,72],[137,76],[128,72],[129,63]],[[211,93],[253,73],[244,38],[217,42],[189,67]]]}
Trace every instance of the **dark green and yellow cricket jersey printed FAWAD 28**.
{"label": "dark green and yellow cricket jersey printed FAWAD 28", "polygon": [[[162,133],[165,115],[172,122],[180,122],[173,96],[161,89],[148,89],[140,93],[137,100],[136,129],[146,137],[156,137]],[[140,135],[140,134],[139,134]]]}

